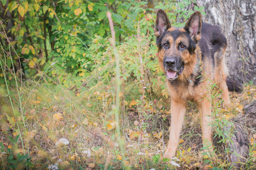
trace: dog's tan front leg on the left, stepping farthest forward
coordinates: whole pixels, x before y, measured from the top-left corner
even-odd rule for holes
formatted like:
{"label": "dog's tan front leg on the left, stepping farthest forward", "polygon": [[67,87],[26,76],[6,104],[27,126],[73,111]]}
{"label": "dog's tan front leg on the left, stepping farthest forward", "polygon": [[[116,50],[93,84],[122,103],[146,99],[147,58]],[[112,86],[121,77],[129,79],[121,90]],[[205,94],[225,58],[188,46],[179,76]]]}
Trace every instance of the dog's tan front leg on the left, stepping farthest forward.
{"label": "dog's tan front leg on the left, stepping farthest forward", "polygon": [[170,138],[163,158],[169,158],[172,160],[172,157],[175,155],[177,146],[179,145],[179,136],[186,112],[186,105],[187,103],[183,100],[177,101],[172,99]]}

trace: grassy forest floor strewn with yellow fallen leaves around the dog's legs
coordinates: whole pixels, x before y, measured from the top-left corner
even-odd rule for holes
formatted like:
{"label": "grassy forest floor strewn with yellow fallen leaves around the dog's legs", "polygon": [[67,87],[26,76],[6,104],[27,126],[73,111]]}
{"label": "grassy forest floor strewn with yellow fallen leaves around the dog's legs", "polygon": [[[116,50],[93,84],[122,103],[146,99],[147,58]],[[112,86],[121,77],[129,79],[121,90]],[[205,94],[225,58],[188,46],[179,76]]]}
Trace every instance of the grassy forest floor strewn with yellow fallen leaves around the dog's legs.
{"label": "grassy forest floor strewn with yellow fallen leaves around the dog's legs", "polygon": [[[22,109],[15,107],[19,96],[14,86],[10,89],[14,112],[9,98],[1,90],[0,164],[3,169],[14,164],[18,169],[24,165],[31,169],[232,168],[228,161],[228,148],[219,137],[218,129],[221,127],[216,124],[213,124],[213,137],[218,136],[214,138],[218,162],[216,158],[202,153],[200,116],[193,103],[188,104],[176,152],[175,162],[181,166],[178,168],[160,159],[169,138],[171,115],[168,96],[148,94],[146,104],[141,107],[138,102],[141,94],[136,84],[124,82],[119,93],[119,126],[123,141],[120,143],[113,113],[114,81],[108,85],[97,83],[81,88],[52,83],[54,81],[49,79],[43,81],[23,83]],[[256,100],[255,86],[246,84],[243,92],[230,92],[230,100],[232,108],[229,111],[217,107],[218,117],[215,118],[218,121],[231,122],[232,118],[241,116],[243,107]],[[250,169],[255,168],[256,131],[245,130],[250,131],[250,154],[243,168]],[[19,134],[22,134],[23,142],[20,142]]]}

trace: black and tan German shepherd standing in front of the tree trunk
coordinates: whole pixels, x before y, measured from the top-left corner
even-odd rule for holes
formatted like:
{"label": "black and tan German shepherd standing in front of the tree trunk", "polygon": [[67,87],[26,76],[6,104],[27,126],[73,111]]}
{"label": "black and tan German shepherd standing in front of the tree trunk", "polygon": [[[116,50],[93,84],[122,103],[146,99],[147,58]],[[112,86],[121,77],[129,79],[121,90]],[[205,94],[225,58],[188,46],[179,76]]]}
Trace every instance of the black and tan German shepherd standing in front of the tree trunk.
{"label": "black and tan German shepherd standing in front of the tree trunk", "polygon": [[[210,81],[216,82],[222,90],[223,108],[230,108],[224,52],[226,37],[220,27],[201,22],[201,13],[191,15],[184,28],[172,27],[166,12],[158,10],[156,15],[156,44],[158,61],[167,78],[171,96],[171,130],[167,150],[163,158],[172,159],[179,145],[187,101],[194,101],[200,112],[203,145],[212,147]],[[210,81],[209,81],[210,80]],[[240,89],[241,90],[241,89]]]}

